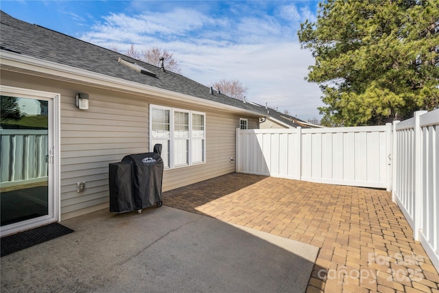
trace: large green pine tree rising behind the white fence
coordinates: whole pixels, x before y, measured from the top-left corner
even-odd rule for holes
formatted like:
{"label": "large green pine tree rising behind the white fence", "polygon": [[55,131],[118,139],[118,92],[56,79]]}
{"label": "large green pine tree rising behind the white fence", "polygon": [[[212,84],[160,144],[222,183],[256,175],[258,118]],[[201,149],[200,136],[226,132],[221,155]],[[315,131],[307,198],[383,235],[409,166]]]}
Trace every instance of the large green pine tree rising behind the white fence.
{"label": "large green pine tree rising behind the white fence", "polygon": [[327,0],[316,23],[301,24],[316,60],[322,123],[375,125],[439,105],[439,2]]}

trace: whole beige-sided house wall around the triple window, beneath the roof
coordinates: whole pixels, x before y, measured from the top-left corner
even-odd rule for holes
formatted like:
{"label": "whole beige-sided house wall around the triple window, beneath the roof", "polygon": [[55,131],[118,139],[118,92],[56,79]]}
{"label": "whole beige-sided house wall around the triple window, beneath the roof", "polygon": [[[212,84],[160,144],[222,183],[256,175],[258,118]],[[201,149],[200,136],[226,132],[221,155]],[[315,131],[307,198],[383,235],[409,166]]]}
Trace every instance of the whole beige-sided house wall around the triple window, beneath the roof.
{"label": "whole beige-sided house wall around the triple window, beneath the roof", "polygon": [[[61,220],[108,207],[108,164],[127,154],[150,151],[150,104],[206,113],[206,163],[165,169],[163,191],[235,172],[230,157],[235,158],[235,131],[242,114],[10,71],[1,71],[1,84],[61,95]],[[88,110],[75,106],[80,92],[89,94]],[[246,118],[249,126],[257,128],[257,117]],[[76,184],[82,181],[86,189],[78,193]]]}

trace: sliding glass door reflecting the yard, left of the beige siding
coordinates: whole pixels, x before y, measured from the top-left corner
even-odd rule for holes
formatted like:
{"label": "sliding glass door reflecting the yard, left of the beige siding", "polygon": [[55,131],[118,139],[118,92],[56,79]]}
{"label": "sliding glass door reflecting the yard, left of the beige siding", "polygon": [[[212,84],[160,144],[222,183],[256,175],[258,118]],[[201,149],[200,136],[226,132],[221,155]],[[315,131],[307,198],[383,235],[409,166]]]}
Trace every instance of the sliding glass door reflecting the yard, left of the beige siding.
{"label": "sliding glass door reflecting the yard, left of the beige siding", "polygon": [[57,218],[54,99],[14,91],[2,91],[0,99],[0,217],[5,235]]}

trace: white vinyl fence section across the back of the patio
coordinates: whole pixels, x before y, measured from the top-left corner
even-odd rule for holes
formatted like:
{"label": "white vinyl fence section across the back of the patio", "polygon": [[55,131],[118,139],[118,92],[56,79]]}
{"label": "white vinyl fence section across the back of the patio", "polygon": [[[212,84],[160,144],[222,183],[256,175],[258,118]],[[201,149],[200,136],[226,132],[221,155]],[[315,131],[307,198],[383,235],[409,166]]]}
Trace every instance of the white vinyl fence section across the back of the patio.
{"label": "white vinyl fence section across the back of the patio", "polygon": [[390,190],[392,124],[237,130],[237,172]]}

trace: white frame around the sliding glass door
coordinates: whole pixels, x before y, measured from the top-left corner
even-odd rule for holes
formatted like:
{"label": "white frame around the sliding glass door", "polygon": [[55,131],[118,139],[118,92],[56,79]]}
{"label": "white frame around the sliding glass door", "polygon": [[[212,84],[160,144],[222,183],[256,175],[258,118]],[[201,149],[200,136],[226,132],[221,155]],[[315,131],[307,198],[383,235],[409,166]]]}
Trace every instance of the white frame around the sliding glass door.
{"label": "white frame around the sliding glass door", "polygon": [[[48,148],[53,148],[53,163],[48,166],[48,196],[49,196],[49,215],[41,216],[35,219],[25,220],[14,224],[0,227],[0,236],[17,233],[29,228],[35,228],[51,222],[60,220],[60,99],[59,93],[47,91],[36,91],[32,89],[23,89],[14,86],[4,86],[0,84],[1,95],[10,95],[16,97],[25,97],[32,99],[45,99],[49,101],[48,117]],[[48,152],[49,152],[48,150]]]}

